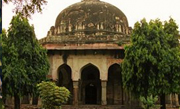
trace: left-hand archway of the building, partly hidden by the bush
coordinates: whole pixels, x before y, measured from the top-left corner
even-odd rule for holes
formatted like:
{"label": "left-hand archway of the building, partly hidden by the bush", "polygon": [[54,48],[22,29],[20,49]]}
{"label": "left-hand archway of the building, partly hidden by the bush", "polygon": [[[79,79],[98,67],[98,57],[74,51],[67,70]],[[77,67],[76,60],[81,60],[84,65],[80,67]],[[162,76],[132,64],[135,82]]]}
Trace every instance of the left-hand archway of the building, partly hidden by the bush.
{"label": "left-hand archway of the building, partly hidden by the bush", "polygon": [[[66,87],[70,92],[71,95],[73,94],[73,83],[71,79],[71,68],[67,64],[62,64],[58,68],[58,80],[57,85],[62,87]],[[67,104],[72,104],[72,98],[69,99]]]}

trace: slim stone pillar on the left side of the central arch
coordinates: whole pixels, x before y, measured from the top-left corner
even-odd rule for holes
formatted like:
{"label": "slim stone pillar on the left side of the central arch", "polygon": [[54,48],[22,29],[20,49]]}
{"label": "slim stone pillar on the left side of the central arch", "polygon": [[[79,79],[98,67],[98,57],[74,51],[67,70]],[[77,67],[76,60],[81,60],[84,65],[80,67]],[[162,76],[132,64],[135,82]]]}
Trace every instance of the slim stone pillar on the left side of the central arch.
{"label": "slim stone pillar on the left side of the central arch", "polygon": [[73,105],[78,105],[78,81],[73,81]]}

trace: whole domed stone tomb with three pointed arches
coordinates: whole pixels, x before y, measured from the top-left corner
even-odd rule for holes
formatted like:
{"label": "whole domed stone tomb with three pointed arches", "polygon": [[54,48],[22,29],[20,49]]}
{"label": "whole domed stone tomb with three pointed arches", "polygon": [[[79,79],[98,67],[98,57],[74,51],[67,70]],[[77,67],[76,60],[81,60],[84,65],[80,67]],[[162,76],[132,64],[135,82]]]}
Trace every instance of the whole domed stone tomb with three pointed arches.
{"label": "whole domed stone tomb with three pointed arches", "polygon": [[[63,109],[139,109],[122,87],[120,68],[131,31],[125,14],[100,0],[82,0],[60,12],[40,43],[48,50],[48,77],[72,94]],[[167,96],[167,104],[178,103],[173,97]]]}

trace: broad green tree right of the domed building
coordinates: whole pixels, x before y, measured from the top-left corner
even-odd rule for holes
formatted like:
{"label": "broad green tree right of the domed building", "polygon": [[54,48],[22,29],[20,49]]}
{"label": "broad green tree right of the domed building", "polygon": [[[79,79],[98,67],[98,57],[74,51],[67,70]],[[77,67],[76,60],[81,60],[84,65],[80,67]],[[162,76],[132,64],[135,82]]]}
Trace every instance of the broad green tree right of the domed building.
{"label": "broad green tree right of the domed building", "polygon": [[125,47],[122,63],[123,85],[135,96],[161,96],[180,91],[180,49],[177,25],[172,18],[137,22],[131,34],[131,45]]}

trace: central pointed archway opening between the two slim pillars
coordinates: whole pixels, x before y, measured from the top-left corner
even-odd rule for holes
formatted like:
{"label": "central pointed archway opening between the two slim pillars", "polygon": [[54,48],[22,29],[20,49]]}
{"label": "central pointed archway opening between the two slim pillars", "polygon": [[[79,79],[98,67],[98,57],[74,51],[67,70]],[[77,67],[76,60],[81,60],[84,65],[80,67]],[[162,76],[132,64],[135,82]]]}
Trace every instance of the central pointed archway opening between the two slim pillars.
{"label": "central pointed archway opening between the two slim pillars", "polygon": [[81,70],[81,92],[80,101],[82,104],[101,103],[101,81],[100,73],[96,66],[87,64]]}

